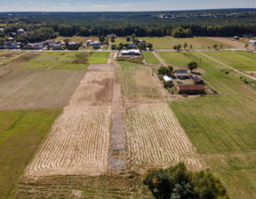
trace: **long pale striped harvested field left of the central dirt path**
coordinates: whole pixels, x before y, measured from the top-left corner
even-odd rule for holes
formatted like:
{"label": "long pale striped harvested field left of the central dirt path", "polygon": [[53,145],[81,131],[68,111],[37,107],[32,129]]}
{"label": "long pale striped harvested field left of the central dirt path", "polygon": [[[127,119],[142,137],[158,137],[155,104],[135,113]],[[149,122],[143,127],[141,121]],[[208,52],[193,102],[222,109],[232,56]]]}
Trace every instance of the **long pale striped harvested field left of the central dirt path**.
{"label": "long pale striped harvested field left of the central dirt path", "polygon": [[98,175],[107,171],[113,83],[114,66],[89,66],[28,165],[28,176]]}

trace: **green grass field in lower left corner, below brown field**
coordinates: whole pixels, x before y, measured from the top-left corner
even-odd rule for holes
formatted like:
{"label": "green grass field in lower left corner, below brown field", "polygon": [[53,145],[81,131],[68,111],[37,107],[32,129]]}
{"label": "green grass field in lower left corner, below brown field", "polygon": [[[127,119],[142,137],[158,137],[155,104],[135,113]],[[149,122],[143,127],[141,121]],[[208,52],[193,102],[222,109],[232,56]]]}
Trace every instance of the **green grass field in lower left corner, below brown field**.
{"label": "green grass field in lower left corner, below brown field", "polygon": [[0,112],[0,198],[14,194],[20,175],[60,111]]}

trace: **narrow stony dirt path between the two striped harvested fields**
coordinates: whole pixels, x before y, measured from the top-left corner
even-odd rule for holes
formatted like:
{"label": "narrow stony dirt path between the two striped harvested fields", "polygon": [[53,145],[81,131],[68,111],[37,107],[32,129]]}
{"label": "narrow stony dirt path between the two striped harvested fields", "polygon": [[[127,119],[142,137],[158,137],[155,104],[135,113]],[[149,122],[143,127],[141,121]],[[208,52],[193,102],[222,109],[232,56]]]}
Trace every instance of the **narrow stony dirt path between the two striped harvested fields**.
{"label": "narrow stony dirt path between the two striped harvested fields", "polygon": [[[116,53],[116,52],[115,52]],[[108,63],[115,65],[115,82],[113,86],[112,99],[112,127],[110,135],[110,150],[109,150],[109,169],[122,171],[126,167],[126,132],[124,124],[124,107],[121,93],[120,66],[116,63],[115,53],[112,52],[109,56]]]}

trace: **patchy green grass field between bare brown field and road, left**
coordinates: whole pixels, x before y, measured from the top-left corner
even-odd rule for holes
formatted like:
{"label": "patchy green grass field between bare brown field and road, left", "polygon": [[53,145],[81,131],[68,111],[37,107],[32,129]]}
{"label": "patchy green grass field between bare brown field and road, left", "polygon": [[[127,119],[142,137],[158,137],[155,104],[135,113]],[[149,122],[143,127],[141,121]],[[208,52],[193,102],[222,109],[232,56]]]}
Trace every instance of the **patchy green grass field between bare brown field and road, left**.
{"label": "patchy green grass field between bare brown field and road, left", "polygon": [[44,52],[29,60],[19,69],[86,69],[92,52]]}

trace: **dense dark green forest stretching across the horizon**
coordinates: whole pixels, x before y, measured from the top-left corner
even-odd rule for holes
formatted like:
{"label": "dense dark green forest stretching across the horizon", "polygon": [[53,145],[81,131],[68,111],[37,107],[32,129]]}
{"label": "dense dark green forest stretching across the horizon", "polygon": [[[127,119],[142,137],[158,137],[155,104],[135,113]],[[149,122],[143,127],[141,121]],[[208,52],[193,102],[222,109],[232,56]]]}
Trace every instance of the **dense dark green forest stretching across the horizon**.
{"label": "dense dark green forest stretching across the horizon", "polygon": [[[256,35],[256,9],[183,12],[2,12],[4,33],[28,31],[28,42],[60,36]],[[4,34],[2,34],[3,36]]]}

